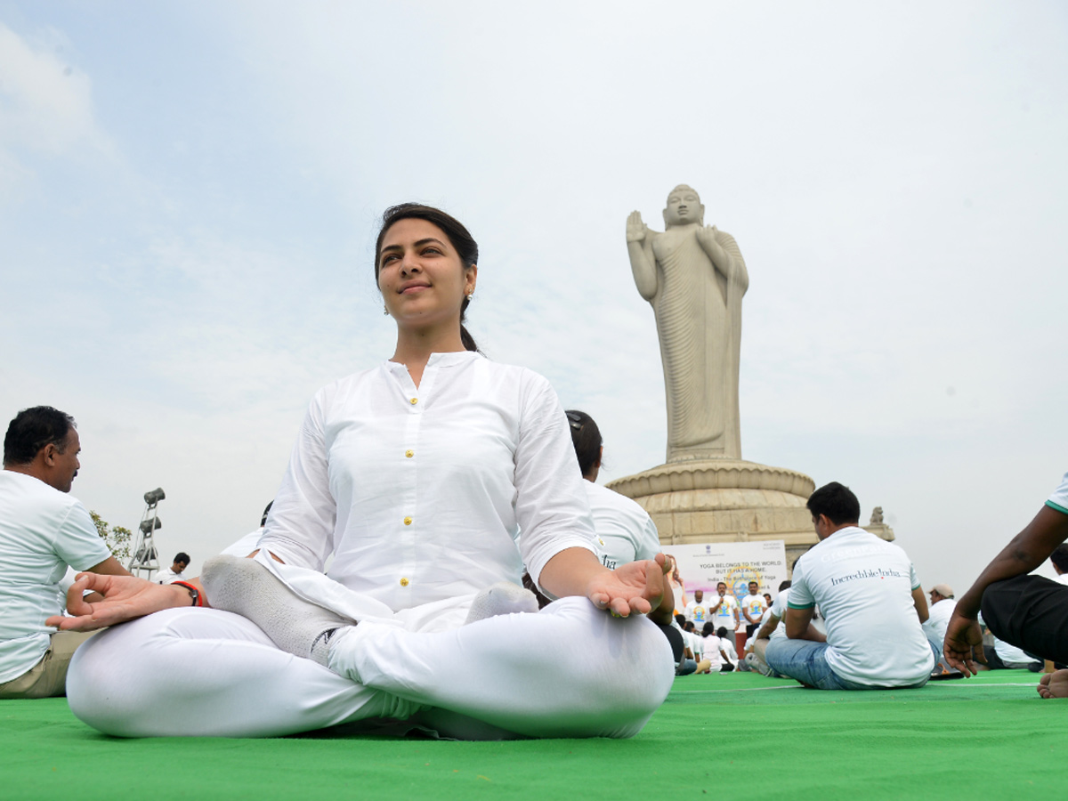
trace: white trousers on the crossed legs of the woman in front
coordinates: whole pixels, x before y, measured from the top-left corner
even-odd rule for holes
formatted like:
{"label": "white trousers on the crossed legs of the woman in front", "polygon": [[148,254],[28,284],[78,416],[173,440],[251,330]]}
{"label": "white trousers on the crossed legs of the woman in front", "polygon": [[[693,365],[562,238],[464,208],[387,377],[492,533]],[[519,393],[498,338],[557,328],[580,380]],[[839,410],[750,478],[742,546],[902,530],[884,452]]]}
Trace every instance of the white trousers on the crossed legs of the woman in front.
{"label": "white trousers on the crossed legs of the woman in front", "polygon": [[82,645],[67,698],[120,737],[269,737],[356,721],[459,739],[631,737],[674,678],[651,622],[585,598],[438,633],[362,623],[335,637],[330,664],[351,678],[279,650],[239,615],[173,609]]}

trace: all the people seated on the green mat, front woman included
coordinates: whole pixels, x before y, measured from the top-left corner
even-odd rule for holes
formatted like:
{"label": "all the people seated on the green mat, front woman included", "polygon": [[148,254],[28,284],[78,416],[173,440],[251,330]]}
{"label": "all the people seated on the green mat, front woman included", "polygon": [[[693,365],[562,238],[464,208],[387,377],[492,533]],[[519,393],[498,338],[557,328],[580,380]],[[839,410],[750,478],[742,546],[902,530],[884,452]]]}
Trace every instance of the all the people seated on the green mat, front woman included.
{"label": "all the people seated on the green mat, front woman included", "polygon": [[[1051,554],[1068,568],[1068,476],[959,601],[937,584],[928,607],[836,482],[808,499],[819,541],[775,596],[752,581],[686,598],[649,516],[595,483],[594,420],[478,351],[477,258],[445,213],[387,210],[374,273],[393,355],[315,395],[262,528],[199,578],[185,553],[160,582],[130,576],[69,494],[74,420],[19,412],[0,471],[0,697],[65,693],[127,737],[629,737],[679,674],[864,690],[1020,663],[985,650],[980,611],[1026,665],[1068,661],[1068,586],[1027,575]],[[82,572],[64,598],[67,566]],[[1068,696],[1068,670],[1039,692]],[[160,717],[160,697],[183,704]]]}

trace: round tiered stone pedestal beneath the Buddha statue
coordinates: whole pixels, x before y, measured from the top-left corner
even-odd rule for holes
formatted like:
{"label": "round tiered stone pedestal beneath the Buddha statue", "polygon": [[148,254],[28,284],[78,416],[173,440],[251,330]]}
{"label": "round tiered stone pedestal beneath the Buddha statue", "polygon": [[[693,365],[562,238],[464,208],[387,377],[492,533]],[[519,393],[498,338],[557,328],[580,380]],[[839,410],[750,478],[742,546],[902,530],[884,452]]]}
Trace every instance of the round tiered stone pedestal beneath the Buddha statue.
{"label": "round tiered stone pedestal beneath the Buddha statue", "polygon": [[[607,486],[649,513],[662,545],[782,539],[792,565],[818,541],[805,508],[816,484],[796,470],[740,459],[673,461]],[[881,515],[864,528],[894,538]]]}

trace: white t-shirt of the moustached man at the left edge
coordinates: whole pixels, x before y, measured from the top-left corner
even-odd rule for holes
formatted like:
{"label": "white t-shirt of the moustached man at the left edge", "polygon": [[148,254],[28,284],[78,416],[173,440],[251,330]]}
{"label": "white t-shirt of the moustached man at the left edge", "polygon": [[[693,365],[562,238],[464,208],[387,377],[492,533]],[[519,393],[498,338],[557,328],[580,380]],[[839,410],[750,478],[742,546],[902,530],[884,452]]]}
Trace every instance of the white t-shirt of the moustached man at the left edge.
{"label": "white t-shirt of the moustached man at the left edge", "polygon": [[45,626],[63,614],[67,565],[85,570],[111,555],[85,507],[31,475],[0,470],[0,684],[48,650]]}

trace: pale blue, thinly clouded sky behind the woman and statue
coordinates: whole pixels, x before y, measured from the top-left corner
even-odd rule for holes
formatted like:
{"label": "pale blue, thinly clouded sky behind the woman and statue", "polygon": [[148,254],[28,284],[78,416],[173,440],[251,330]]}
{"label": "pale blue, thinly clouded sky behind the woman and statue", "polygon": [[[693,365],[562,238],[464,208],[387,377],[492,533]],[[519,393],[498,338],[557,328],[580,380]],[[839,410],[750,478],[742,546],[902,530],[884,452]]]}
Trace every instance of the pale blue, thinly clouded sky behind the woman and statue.
{"label": "pale blue, thinly clouded sky behind the woman and statue", "polygon": [[[376,221],[481,248],[469,328],[664,460],[626,220],[680,183],[750,273],[743,458],[882,506],[958,595],[1068,470],[1068,11],[1056,2],[0,0],[0,417],[203,560],[258,524],[314,392],[393,352]],[[1052,575],[1043,567],[1043,575]]]}

